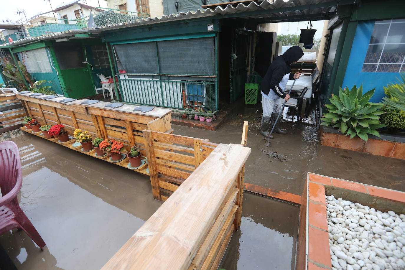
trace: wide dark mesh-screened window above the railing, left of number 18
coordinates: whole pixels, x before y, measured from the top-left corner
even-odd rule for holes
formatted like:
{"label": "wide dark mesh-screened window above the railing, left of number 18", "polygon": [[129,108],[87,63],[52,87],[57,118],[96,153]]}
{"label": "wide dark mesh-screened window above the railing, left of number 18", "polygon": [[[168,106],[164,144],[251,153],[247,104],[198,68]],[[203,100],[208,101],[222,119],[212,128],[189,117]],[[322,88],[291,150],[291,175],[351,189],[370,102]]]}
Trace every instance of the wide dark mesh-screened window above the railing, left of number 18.
{"label": "wide dark mesh-screened window above the railing, left of number 18", "polygon": [[114,49],[128,73],[213,75],[214,45],[214,38],[207,37],[117,44]]}

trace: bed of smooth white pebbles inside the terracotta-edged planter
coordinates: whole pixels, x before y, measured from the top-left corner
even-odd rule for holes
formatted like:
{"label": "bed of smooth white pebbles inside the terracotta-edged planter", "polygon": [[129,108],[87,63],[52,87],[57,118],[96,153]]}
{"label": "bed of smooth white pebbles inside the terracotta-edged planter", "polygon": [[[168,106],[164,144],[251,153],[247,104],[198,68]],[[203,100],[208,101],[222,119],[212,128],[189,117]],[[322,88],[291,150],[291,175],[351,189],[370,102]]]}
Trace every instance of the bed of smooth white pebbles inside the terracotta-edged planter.
{"label": "bed of smooth white pebbles inside the terracotta-edged planter", "polygon": [[332,269],[405,269],[405,215],[325,196]]}

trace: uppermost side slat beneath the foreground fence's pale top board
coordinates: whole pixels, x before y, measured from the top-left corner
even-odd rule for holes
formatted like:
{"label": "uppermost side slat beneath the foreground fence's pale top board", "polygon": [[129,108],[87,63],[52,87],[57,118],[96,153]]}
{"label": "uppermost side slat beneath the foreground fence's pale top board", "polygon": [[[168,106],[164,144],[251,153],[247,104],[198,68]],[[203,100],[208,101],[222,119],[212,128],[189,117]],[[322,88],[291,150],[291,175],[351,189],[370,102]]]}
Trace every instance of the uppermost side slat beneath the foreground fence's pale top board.
{"label": "uppermost side slat beneath the foreground fence's pale top board", "polygon": [[[232,193],[230,194],[230,198],[228,198],[228,201],[224,205],[224,208],[222,208],[222,211],[220,215],[218,216],[217,220],[215,221],[214,225],[212,226],[212,229],[209,231],[209,234],[207,235],[207,238],[205,238],[205,241],[203,242],[203,245],[200,247],[198,250],[198,253],[196,254],[196,257],[194,257],[192,264],[195,266],[195,269],[200,269],[202,264],[205,261],[205,258],[207,258],[209,251],[211,250],[211,247],[213,246],[217,236],[220,234],[222,228],[224,227],[224,224],[228,220],[229,215],[231,215],[232,208],[234,208],[235,202],[236,202],[236,197],[239,193],[239,189],[234,189]],[[190,268],[189,268],[190,270]]]}

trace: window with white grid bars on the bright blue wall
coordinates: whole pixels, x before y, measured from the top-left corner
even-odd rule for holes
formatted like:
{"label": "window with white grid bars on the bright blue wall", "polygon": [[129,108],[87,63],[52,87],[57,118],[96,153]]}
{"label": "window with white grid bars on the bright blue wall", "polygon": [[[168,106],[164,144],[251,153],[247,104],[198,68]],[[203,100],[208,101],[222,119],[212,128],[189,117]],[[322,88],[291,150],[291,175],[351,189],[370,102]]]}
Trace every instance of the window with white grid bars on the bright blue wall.
{"label": "window with white grid bars on the bright blue wall", "polygon": [[375,21],[363,72],[405,71],[405,19]]}

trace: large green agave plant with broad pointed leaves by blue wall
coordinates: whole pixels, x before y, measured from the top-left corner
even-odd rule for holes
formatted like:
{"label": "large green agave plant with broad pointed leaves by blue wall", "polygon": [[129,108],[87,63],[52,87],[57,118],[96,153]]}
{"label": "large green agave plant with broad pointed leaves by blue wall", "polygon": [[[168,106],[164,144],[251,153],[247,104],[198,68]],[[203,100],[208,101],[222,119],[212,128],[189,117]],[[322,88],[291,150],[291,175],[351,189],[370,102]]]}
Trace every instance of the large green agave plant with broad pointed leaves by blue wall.
{"label": "large green agave plant with broad pointed leaves by blue wall", "polygon": [[369,102],[373,94],[374,89],[363,95],[362,85],[358,89],[354,85],[350,91],[340,88],[339,96],[329,98],[332,104],[325,104],[329,113],[322,116],[321,125],[339,128],[342,134],[350,135],[351,139],[358,136],[367,142],[368,134],[380,137],[377,129],[386,127],[379,121],[379,115],[384,113],[379,111],[383,104]]}

